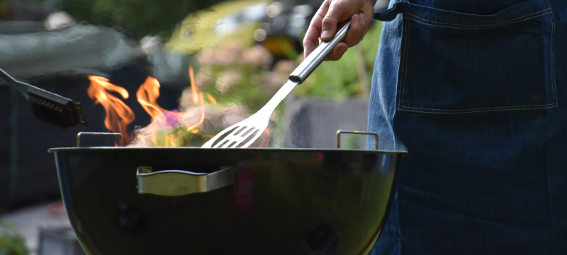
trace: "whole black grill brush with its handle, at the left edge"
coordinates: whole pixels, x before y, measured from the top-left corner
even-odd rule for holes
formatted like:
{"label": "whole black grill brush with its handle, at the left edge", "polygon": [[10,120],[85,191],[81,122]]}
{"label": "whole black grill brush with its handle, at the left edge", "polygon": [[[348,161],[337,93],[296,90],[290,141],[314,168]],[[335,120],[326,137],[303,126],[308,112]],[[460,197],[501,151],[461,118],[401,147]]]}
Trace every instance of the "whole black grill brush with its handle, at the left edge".
{"label": "whole black grill brush with its handle, at the left edge", "polygon": [[87,125],[81,103],[75,103],[69,98],[17,81],[2,69],[0,69],[0,77],[28,99],[31,112],[38,120],[60,128],[69,128],[79,123]]}

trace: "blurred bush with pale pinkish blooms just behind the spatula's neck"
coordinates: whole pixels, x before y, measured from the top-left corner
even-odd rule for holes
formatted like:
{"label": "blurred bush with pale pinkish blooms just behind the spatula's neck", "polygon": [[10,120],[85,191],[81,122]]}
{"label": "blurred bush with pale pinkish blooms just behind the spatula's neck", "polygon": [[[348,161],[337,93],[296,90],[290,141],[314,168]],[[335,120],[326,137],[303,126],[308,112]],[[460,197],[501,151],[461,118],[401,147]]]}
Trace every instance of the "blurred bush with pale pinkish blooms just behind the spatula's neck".
{"label": "blurred bush with pale pinkish blooms just behind the spatula's neck", "polygon": [[[270,71],[271,61],[270,52],[261,45],[245,47],[239,42],[229,42],[208,48],[193,63],[197,67],[196,84],[220,105],[242,104],[255,112],[287,81],[294,68],[293,62],[284,60],[286,64],[280,65],[283,69],[276,67]],[[282,73],[285,73],[283,79]]]}

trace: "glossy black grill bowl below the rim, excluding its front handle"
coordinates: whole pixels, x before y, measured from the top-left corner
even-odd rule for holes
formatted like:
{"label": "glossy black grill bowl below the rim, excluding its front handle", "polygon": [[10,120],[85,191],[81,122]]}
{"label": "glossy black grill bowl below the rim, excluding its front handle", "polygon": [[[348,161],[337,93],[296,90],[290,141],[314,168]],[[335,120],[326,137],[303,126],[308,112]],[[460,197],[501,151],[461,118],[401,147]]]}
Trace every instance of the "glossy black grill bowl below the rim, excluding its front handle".
{"label": "glossy black grill bowl below the rim, excluding its front handle", "polygon": [[[54,148],[67,215],[98,254],[367,254],[405,152],[347,149]],[[138,192],[137,169],[235,182],[182,196]]]}

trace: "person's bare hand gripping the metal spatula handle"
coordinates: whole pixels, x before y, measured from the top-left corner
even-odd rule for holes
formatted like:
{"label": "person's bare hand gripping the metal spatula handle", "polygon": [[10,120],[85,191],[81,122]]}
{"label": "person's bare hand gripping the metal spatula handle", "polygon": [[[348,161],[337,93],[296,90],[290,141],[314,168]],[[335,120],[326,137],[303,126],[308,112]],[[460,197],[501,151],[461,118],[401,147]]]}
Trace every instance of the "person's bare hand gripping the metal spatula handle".
{"label": "person's bare hand gripping the metal spatula handle", "polygon": [[307,57],[315,50],[319,38],[323,41],[332,39],[337,23],[352,18],[347,38],[337,44],[328,57],[328,60],[339,60],[349,47],[357,45],[364,38],[374,16],[374,4],[376,0],[325,0],[311,20],[303,39],[303,55]]}

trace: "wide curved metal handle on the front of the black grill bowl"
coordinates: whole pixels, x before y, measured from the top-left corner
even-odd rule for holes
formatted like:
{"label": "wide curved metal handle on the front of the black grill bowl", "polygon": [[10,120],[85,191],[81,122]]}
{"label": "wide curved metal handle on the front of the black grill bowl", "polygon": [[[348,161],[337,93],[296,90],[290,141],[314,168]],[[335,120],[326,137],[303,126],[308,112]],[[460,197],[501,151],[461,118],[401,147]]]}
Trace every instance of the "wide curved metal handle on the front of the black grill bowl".
{"label": "wide curved metal handle on the front of the black grill bowl", "polygon": [[152,172],[151,166],[137,168],[137,193],[158,196],[184,196],[204,193],[235,183],[235,167],[223,166],[210,174],[182,170]]}

